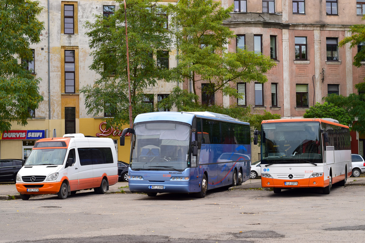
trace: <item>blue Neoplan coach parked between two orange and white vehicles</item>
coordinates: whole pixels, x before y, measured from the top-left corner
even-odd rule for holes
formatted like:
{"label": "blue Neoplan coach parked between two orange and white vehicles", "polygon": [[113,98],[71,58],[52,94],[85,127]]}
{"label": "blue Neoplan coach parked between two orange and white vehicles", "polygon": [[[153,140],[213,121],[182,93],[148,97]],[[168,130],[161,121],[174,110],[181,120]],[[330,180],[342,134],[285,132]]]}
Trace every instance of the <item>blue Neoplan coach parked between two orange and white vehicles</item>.
{"label": "blue Neoplan coach parked between two orange and white vehicles", "polygon": [[195,193],[240,185],[250,177],[250,124],[211,112],[139,114],[131,133],[131,192]]}

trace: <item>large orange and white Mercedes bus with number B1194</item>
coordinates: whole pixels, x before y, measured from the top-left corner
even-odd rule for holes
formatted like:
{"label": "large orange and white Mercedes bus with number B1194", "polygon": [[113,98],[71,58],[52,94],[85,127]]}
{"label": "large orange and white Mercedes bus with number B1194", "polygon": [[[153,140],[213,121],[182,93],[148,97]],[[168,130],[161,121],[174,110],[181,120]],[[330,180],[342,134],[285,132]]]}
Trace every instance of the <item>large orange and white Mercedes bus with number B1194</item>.
{"label": "large orange and white Mercedes bus with number B1194", "polygon": [[[254,132],[257,144],[258,130]],[[351,176],[350,130],[331,118],[261,123],[261,184],[274,193],[290,188],[345,185]]]}

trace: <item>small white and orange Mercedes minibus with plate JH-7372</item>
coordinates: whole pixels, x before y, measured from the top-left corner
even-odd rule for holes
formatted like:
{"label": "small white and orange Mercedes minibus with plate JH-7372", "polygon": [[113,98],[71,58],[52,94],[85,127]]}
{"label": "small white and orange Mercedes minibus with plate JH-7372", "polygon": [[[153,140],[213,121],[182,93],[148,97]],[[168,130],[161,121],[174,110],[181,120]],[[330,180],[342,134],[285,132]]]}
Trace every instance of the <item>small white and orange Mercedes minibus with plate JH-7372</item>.
{"label": "small white and orange Mercedes minibus with plate JH-7372", "polygon": [[32,194],[66,199],[80,190],[104,194],[118,182],[117,154],[111,138],[65,134],[38,140],[16,176],[23,200]]}

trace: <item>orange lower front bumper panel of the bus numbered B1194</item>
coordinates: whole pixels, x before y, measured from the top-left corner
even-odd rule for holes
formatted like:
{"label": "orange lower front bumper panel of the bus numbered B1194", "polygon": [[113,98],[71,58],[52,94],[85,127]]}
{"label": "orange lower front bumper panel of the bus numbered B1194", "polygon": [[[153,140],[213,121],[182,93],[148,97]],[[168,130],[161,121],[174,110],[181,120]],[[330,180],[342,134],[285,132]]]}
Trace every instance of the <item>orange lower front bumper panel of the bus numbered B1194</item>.
{"label": "orange lower front bumper panel of the bus numbered B1194", "polygon": [[[285,182],[297,182],[297,185],[285,185]],[[326,187],[330,183],[330,180],[324,180],[323,176],[312,177],[307,179],[298,180],[285,180],[285,179],[271,179],[261,177],[262,187],[276,187],[276,188],[308,188],[308,187]]]}

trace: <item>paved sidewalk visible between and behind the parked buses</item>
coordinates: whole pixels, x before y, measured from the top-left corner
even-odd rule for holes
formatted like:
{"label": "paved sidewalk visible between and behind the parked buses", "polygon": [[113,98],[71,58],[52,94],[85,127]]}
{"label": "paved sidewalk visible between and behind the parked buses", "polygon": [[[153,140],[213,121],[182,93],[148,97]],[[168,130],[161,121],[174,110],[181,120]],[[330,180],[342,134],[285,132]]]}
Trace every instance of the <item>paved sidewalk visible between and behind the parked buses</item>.
{"label": "paved sidewalk visible between and behind the parked buses", "polygon": [[[346,187],[352,185],[365,185],[365,177],[350,177],[347,178]],[[129,191],[128,182],[118,182],[115,185],[111,185],[109,187],[109,191],[107,193],[131,193]],[[261,188],[261,179],[249,179],[245,181],[242,185],[237,187],[231,187],[230,189],[251,189],[251,188]],[[80,193],[80,192],[78,192]],[[0,200],[9,200],[9,199],[20,199],[20,194],[16,191],[15,183],[12,184],[4,184],[0,183]]]}

